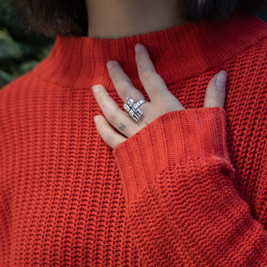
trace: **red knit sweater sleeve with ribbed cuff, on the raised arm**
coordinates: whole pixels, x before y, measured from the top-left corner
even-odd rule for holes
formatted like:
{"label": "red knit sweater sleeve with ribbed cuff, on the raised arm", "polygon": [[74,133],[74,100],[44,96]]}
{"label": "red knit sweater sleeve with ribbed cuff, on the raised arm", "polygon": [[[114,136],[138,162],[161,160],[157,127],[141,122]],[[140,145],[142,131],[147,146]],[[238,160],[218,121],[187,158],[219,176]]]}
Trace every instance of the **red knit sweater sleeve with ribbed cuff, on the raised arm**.
{"label": "red knit sweater sleeve with ribbed cuff, on the raised arm", "polygon": [[267,266],[267,233],[233,186],[226,112],[161,115],[113,150],[143,266]]}

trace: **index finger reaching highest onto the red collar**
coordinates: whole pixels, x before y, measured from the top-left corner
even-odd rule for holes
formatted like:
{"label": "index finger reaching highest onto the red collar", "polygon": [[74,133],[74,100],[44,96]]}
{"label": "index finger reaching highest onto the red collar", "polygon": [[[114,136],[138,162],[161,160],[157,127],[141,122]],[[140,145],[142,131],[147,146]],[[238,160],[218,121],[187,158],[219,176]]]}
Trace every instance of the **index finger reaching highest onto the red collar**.
{"label": "index finger reaching highest onto the red collar", "polygon": [[169,92],[169,90],[161,76],[156,72],[145,46],[143,44],[136,44],[135,52],[140,81],[150,100],[153,101],[154,99],[157,101],[159,98],[163,97],[166,92]]}

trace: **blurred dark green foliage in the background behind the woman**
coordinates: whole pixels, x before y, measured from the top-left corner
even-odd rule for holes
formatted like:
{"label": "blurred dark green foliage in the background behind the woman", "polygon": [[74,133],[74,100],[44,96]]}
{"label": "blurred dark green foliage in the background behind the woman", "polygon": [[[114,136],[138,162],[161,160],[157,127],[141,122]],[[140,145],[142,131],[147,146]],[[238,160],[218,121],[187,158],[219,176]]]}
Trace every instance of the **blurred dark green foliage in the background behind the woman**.
{"label": "blurred dark green foliage in the background behind the woman", "polygon": [[[267,8],[256,17],[267,22]],[[31,70],[45,58],[54,38],[26,32],[26,24],[11,0],[0,0],[0,88]]]}

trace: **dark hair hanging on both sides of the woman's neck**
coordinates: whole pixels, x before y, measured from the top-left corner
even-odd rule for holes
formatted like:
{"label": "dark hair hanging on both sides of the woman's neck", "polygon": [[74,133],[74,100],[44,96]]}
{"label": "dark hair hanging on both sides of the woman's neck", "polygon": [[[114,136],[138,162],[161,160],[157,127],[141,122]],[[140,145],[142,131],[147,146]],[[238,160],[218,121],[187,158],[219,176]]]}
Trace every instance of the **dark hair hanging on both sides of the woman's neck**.
{"label": "dark hair hanging on both sides of the woman's neck", "polygon": [[[236,12],[253,14],[266,0],[177,0],[187,21],[202,19],[227,22]],[[46,35],[84,35],[88,31],[85,0],[12,0],[29,24]]]}

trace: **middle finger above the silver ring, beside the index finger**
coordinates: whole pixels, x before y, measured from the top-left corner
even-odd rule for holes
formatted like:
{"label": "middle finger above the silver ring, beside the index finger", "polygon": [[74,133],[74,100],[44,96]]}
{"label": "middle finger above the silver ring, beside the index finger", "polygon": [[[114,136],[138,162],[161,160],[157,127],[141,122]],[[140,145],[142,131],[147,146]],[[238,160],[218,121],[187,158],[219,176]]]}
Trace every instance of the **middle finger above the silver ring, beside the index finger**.
{"label": "middle finger above the silver ring, beside the index finger", "polygon": [[132,98],[135,102],[145,98],[144,95],[134,87],[132,81],[125,74],[124,70],[117,61],[107,61],[106,65],[112,83],[124,103],[127,104],[127,97]]}

